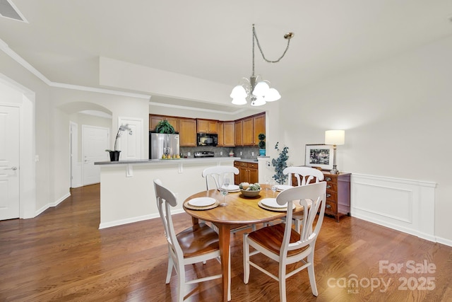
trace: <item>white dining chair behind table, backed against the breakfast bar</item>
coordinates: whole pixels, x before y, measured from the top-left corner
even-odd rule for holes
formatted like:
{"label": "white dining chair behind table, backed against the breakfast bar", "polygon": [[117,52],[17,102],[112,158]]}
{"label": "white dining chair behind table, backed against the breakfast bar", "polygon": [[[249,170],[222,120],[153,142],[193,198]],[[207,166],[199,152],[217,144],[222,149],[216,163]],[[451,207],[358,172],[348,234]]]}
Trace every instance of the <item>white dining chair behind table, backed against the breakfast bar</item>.
{"label": "white dining chair behind table, backed against the breakfast bar", "polygon": [[[206,178],[206,190],[212,190],[214,189],[213,186],[209,185],[209,180],[213,180],[215,183],[215,188],[217,190],[220,190],[220,187],[224,183],[225,178],[230,178],[230,184],[234,184],[234,174],[239,175],[239,169],[232,166],[232,165],[215,165],[213,167],[209,167],[203,170],[203,178]],[[218,229],[215,227],[215,225],[212,224],[212,228],[215,231],[218,231]],[[246,225],[246,226],[237,226],[234,228],[231,228],[231,233],[237,233],[238,231],[242,231],[246,228],[251,228],[252,231],[256,229],[256,226],[254,224]]]}

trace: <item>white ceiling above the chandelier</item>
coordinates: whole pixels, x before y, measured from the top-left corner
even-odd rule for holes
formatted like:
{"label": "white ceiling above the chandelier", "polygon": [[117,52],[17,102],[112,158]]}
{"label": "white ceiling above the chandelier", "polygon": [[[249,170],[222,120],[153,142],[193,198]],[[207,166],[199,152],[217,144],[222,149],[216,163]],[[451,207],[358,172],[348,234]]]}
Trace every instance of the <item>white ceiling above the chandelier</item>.
{"label": "white ceiling above the chandelier", "polygon": [[268,59],[295,33],[278,64],[256,48],[282,95],[452,34],[452,0],[9,1],[28,23],[0,18],[0,39],[49,81],[88,87],[103,56],[232,88],[251,75],[253,23]]}

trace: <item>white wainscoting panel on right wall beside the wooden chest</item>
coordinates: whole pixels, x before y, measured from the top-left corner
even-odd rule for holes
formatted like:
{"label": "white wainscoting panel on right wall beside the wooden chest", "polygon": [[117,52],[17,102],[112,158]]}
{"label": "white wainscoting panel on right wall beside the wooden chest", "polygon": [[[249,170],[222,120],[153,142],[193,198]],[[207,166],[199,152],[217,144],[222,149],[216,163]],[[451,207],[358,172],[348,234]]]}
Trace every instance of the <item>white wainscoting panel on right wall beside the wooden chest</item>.
{"label": "white wainscoting panel on right wall beside the wooden chest", "polygon": [[434,182],[352,174],[350,214],[435,241]]}

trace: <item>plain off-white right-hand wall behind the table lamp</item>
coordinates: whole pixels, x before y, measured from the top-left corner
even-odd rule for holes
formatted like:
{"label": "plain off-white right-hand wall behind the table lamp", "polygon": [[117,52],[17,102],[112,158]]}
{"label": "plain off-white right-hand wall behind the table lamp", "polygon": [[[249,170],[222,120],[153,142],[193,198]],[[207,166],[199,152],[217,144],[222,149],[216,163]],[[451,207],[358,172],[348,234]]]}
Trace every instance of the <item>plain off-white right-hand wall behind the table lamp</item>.
{"label": "plain off-white right-hand wall behind the table lamp", "polygon": [[448,37],[291,93],[280,103],[290,161],[304,163],[304,145],[323,143],[326,129],[345,129],[339,170],[436,182],[436,237],[450,244],[451,53]]}

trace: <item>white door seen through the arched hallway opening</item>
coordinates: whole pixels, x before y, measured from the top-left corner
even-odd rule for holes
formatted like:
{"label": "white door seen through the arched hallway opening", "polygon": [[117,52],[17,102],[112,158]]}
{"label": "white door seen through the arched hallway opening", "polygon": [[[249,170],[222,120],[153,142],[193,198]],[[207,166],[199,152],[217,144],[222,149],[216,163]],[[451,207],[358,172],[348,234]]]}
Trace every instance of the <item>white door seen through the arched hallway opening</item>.
{"label": "white door seen through the arched hallway opening", "polygon": [[109,129],[82,125],[83,185],[100,182],[100,168],[96,161],[109,161]]}

